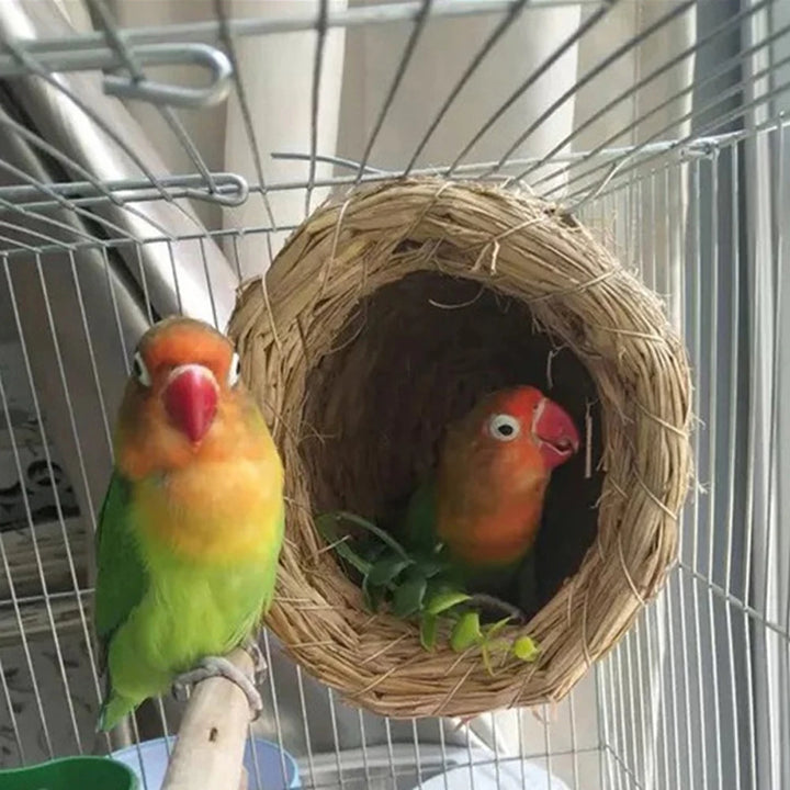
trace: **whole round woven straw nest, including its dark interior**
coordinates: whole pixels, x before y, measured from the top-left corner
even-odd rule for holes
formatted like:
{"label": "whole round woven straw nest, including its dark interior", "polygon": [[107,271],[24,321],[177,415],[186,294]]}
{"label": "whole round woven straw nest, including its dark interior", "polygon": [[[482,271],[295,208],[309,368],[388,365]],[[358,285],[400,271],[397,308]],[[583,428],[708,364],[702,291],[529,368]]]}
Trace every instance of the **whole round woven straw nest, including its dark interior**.
{"label": "whole round woven straw nest, including its dark interior", "polygon": [[[690,474],[690,381],[662,305],[557,206],[474,183],[399,180],[329,201],[230,321],[286,470],[268,624],[348,701],[396,718],[556,701],[659,589]],[[371,614],[313,516],[373,518],[436,461],[484,393],[540,386],[586,447],[552,477],[537,552],[540,658],[435,653]]]}

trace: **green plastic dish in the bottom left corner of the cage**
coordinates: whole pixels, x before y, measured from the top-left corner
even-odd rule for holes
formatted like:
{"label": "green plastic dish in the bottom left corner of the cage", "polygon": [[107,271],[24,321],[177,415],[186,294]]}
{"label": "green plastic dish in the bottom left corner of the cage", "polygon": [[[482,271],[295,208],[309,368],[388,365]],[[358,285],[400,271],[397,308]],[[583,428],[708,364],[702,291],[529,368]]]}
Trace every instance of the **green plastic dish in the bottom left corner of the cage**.
{"label": "green plastic dish in the bottom left corner of the cage", "polygon": [[0,790],[138,790],[135,775],[109,757],[63,757],[0,770]]}

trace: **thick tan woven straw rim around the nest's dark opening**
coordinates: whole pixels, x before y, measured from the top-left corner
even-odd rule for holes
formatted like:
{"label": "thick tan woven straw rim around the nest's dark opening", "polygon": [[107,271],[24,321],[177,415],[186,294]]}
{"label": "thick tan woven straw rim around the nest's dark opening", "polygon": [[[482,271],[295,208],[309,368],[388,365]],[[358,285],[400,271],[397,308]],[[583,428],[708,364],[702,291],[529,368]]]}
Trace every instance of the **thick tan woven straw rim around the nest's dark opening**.
{"label": "thick tan woven straw rim around the nest's dark opening", "polygon": [[[419,271],[474,280],[529,305],[585,364],[601,409],[598,534],[526,625],[533,664],[492,676],[474,650],[429,654],[417,627],[364,609],[318,535],[300,443],[306,385],[361,300]],[[690,371],[657,297],[557,204],[438,178],[362,185],[328,200],[262,278],[228,332],[286,474],[286,538],[267,624],[307,672],[391,718],[470,716],[556,702],[608,653],[674,563],[691,473]]]}

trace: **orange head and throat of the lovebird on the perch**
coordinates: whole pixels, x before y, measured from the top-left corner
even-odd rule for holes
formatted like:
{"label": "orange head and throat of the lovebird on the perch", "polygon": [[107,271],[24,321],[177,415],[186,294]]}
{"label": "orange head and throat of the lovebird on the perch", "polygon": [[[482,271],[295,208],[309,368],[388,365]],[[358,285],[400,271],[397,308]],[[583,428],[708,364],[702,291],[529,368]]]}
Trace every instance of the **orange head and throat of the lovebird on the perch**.
{"label": "orange head and throat of the lovebird on the perch", "polygon": [[210,325],[179,316],[153,326],[133,357],[121,406],[120,469],[134,478],[195,458],[244,455],[268,429],[240,374],[233,345]]}

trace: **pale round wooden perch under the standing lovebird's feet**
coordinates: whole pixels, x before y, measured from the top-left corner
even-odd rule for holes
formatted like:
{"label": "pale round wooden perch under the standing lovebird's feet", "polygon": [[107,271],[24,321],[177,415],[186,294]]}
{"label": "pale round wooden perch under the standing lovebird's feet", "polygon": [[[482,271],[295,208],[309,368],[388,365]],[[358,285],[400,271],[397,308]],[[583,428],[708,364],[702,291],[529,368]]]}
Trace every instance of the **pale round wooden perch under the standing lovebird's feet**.
{"label": "pale round wooden perch under the standing lovebird's feet", "polygon": [[[227,658],[252,677],[252,659],[244,650]],[[162,790],[245,790],[249,721],[247,697],[236,684],[224,677],[199,682],[187,704]]]}

